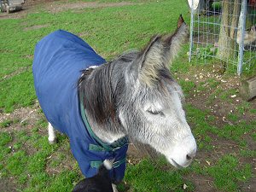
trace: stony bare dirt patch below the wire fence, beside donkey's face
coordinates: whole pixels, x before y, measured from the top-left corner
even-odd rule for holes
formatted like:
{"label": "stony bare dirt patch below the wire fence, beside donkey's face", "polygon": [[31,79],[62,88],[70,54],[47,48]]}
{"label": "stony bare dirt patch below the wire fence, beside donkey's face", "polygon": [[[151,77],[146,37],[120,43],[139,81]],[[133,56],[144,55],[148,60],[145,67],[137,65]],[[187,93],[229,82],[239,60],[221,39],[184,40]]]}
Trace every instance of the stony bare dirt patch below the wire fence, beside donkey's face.
{"label": "stony bare dirt patch below the wire fence, beside donkey's face", "polygon": [[[227,119],[227,115],[229,113],[236,113],[238,108],[244,102],[239,93],[239,88],[241,86],[240,77],[229,77],[227,75],[219,74],[218,67],[215,67],[215,69],[213,67],[212,72],[201,69],[201,71],[192,73],[178,74],[178,79],[186,79],[188,81],[193,81],[196,84],[195,89],[191,90],[192,93],[186,97],[186,102],[191,103],[193,106],[200,108],[201,110],[210,111],[211,115],[216,118],[214,120],[214,124],[218,127],[223,125],[234,125],[234,122],[231,122],[230,119]],[[207,79],[213,79],[219,84],[212,88],[212,86],[207,82]],[[201,84],[205,90],[198,89]],[[216,90],[219,89],[221,92],[212,99],[212,95]],[[230,94],[226,99],[220,98],[221,94],[224,94],[231,89],[236,90],[234,95]],[[250,101],[249,103],[251,108],[256,108],[256,99]],[[240,122],[240,120],[250,122],[253,119],[256,119],[256,114],[246,112],[238,118],[238,122]]]}

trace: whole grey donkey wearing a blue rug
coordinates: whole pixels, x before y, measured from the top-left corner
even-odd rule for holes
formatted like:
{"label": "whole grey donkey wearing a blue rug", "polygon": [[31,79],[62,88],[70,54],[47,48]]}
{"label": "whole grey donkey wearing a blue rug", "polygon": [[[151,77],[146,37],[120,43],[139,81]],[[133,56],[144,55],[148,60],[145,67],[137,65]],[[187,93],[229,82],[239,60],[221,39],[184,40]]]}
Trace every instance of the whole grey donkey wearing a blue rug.
{"label": "whole grey donkey wearing a blue rug", "polygon": [[128,141],[154,148],[178,168],[189,166],[196,143],[183,111],[183,91],[169,64],[188,34],[180,15],[173,34],[156,35],[141,51],[107,62],[81,38],[58,30],[36,46],[32,71],[38,102],[55,129],[67,134],[85,177],[115,160],[113,183],[125,174]]}

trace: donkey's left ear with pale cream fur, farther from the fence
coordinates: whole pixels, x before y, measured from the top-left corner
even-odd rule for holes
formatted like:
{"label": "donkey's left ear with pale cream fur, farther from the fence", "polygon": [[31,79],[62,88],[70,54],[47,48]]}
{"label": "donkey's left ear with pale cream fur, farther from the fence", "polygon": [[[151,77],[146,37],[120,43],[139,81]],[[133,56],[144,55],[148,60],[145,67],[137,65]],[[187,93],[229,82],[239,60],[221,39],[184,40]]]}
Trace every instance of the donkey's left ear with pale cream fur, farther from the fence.
{"label": "donkey's left ear with pale cream fur, farther from the fence", "polygon": [[163,44],[161,36],[156,35],[139,55],[139,72],[138,78],[144,83],[151,85],[159,79],[159,72],[163,66],[162,52]]}

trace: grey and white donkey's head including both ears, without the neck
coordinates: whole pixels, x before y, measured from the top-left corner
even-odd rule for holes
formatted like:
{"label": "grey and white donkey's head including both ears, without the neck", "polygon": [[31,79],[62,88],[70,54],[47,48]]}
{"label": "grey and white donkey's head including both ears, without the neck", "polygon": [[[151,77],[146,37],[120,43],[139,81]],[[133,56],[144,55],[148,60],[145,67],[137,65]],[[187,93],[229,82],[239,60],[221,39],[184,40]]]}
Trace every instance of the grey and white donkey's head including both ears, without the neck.
{"label": "grey and white donkey's head including both ears, without the neck", "polygon": [[119,105],[120,122],[131,139],[149,144],[177,167],[189,166],[196,152],[183,92],[169,71],[187,33],[180,16],[176,32],[150,40],[127,68]]}

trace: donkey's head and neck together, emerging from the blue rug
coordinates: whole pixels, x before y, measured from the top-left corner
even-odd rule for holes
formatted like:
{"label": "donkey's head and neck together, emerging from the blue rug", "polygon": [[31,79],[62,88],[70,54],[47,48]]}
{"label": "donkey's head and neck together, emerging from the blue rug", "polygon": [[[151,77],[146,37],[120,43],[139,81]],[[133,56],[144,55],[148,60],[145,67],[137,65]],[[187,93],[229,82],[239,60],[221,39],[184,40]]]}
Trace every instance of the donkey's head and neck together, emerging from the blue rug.
{"label": "donkey's head and neck together, emerging from the blue rug", "polygon": [[173,166],[189,166],[195,138],[183,111],[183,92],[169,71],[187,33],[180,16],[172,35],[155,36],[142,51],[84,73],[79,91],[102,141],[112,143],[126,135],[164,154]]}

